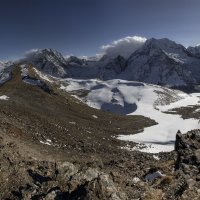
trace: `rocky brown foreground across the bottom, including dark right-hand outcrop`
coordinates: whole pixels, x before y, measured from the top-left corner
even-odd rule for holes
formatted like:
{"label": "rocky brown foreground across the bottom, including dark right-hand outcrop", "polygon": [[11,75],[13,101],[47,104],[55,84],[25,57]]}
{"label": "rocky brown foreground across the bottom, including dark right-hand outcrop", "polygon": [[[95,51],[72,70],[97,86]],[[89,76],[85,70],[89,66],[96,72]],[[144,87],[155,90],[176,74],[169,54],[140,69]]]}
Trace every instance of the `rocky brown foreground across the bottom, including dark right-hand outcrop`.
{"label": "rocky brown foreground across the bottom, including dark right-hand outcrop", "polygon": [[200,130],[178,133],[175,152],[160,153],[159,160],[135,151],[102,164],[26,157],[5,135],[0,143],[1,199],[200,199]]}

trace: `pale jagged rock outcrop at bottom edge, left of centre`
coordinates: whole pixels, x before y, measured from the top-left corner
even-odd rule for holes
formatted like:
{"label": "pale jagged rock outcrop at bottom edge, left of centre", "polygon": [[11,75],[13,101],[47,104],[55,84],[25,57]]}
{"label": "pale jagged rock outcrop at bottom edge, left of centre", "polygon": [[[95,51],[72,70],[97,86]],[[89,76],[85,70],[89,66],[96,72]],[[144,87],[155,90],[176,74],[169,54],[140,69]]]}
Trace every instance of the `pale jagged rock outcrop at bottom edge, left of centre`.
{"label": "pale jagged rock outcrop at bottom edge, left of centre", "polygon": [[[35,162],[24,169],[24,185],[13,190],[12,199],[85,199],[126,200],[127,196],[117,187],[112,177],[98,169],[82,168],[70,162]],[[22,171],[22,170],[21,170]],[[24,175],[24,174],[23,174]]]}

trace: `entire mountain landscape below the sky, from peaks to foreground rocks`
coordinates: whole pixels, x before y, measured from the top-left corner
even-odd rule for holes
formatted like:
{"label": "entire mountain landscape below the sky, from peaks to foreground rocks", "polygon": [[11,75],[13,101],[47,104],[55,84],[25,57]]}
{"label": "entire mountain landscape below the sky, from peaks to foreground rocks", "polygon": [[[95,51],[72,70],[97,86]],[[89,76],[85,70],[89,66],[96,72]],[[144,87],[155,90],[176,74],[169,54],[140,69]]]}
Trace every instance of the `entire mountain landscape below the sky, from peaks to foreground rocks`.
{"label": "entire mountain landscape below the sky, from peaks to foreground rocks", "polygon": [[198,199],[199,52],[0,62],[0,199]]}

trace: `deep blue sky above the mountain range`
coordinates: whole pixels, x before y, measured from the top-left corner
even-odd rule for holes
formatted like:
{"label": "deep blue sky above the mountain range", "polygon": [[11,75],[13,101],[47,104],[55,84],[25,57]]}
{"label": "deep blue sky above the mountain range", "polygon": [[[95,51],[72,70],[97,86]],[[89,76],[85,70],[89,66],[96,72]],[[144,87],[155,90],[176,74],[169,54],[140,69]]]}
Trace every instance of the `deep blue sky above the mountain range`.
{"label": "deep blue sky above the mountain range", "polygon": [[199,0],[1,0],[0,60],[37,48],[94,55],[127,36],[200,43]]}

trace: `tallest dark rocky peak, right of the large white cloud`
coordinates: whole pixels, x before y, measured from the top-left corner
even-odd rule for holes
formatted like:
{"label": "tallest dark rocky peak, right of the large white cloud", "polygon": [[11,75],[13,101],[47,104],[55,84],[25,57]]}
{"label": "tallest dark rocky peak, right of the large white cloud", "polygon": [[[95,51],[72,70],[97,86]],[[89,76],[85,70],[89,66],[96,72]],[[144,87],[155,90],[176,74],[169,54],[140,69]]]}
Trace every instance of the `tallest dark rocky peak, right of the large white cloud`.
{"label": "tallest dark rocky peak, right of the large white cloud", "polygon": [[167,86],[196,82],[188,67],[191,57],[187,50],[168,39],[148,40],[130,56],[127,63],[128,67],[121,75],[124,79]]}

